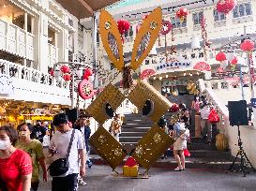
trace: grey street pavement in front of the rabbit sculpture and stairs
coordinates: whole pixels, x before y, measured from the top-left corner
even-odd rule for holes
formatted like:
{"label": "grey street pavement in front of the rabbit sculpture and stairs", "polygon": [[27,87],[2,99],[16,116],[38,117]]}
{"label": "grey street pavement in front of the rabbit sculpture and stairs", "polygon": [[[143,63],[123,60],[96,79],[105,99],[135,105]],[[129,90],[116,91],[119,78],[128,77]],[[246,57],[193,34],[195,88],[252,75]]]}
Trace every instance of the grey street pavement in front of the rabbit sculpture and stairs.
{"label": "grey street pavement in front of the rabbit sculpture and stairs", "polygon": [[[117,169],[122,172],[121,168]],[[143,170],[142,170],[143,172]],[[141,173],[142,173],[141,172]],[[86,169],[80,191],[256,191],[256,173],[246,177],[242,173],[217,169],[187,169],[173,171],[173,168],[153,168],[148,179],[114,177],[108,166],[94,165]],[[38,191],[51,190],[51,180],[40,182]]]}

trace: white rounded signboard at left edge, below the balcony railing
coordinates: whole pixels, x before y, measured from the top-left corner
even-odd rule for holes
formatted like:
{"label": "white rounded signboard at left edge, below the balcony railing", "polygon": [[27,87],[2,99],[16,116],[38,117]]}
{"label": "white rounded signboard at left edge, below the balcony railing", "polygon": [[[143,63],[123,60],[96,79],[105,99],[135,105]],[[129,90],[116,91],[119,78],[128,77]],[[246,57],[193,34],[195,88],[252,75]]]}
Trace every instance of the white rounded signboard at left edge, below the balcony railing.
{"label": "white rounded signboard at left edge, below the balcony railing", "polygon": [[5,74],[0,74],[0,95],[14,94],[12,79]]}

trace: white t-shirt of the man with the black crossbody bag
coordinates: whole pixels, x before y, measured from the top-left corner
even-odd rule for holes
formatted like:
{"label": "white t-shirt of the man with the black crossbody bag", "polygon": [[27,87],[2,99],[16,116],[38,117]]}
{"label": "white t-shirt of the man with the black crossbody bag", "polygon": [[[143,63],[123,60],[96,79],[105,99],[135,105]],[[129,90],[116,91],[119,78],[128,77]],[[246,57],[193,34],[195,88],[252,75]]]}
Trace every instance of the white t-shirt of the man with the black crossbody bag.
{"label": "white t-shirt of the man with the black crossbody bag", "polygon": [[[50,142],[50,148],[55,147],[57,154],[53,154],[53,160],[59,158],[66,158],[68,154],[68,144],[72,135],[72,130],[67,133],[61,133],[57,131]],[[74,140],[72,141],[72,146],[70,149],[68,162],[69,169],[66,174],[59,177],[67,176],[68,174],[79,173],[79,154],[78,150],[84,149],[83,134],[75,129]]]}

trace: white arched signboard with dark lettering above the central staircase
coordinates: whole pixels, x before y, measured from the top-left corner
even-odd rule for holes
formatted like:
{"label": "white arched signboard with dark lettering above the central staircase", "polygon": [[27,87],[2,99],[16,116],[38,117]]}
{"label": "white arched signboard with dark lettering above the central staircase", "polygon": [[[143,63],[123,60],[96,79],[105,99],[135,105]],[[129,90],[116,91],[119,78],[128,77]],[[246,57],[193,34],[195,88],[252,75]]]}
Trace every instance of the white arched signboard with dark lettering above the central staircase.
{"label": "white arched signboard with dark lettering above the central staircase", "polygon": [[156,70],[170,70],[170,69],[188,69],[191,67],[191,61],[182,57],[171,57],[166,61],[166,57],[160,58],[159,64],[156,66]]}

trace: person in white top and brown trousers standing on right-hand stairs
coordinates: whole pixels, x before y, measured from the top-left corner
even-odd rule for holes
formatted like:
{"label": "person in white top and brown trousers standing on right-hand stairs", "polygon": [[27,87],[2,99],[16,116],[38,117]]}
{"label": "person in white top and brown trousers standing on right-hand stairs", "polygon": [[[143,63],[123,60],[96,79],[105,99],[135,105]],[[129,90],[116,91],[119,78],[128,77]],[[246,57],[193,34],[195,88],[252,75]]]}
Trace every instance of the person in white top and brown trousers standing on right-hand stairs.
{"label": "person in white top and brown trousers standing on right-hand stairs", "polygon": [[201,125],[202,125],[202,134],[203,137],[206,136],[207,133],[207,143],[209,144],[212,140],[212,125],[208,120],[209,113],[210,113],[210,107],[207,103],[203,103],[203,108],[200,111],[201,113]]}

